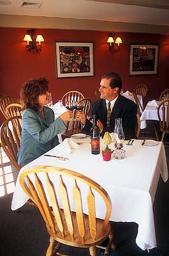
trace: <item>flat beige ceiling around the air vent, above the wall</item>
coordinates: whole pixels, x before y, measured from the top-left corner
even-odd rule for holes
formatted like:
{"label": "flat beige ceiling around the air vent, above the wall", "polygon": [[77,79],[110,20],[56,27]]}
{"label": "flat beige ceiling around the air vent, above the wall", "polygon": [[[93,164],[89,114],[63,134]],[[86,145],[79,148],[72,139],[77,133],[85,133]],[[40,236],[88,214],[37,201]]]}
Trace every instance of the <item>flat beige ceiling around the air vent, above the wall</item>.
{"label": "flat beige ceiling around the air vent, above the wall", "polygon": [[21,0],[0,0],[0,14],[104,20],[169,26],[169,0],[26,1],[42,4],[38,9],[21,8]]}

